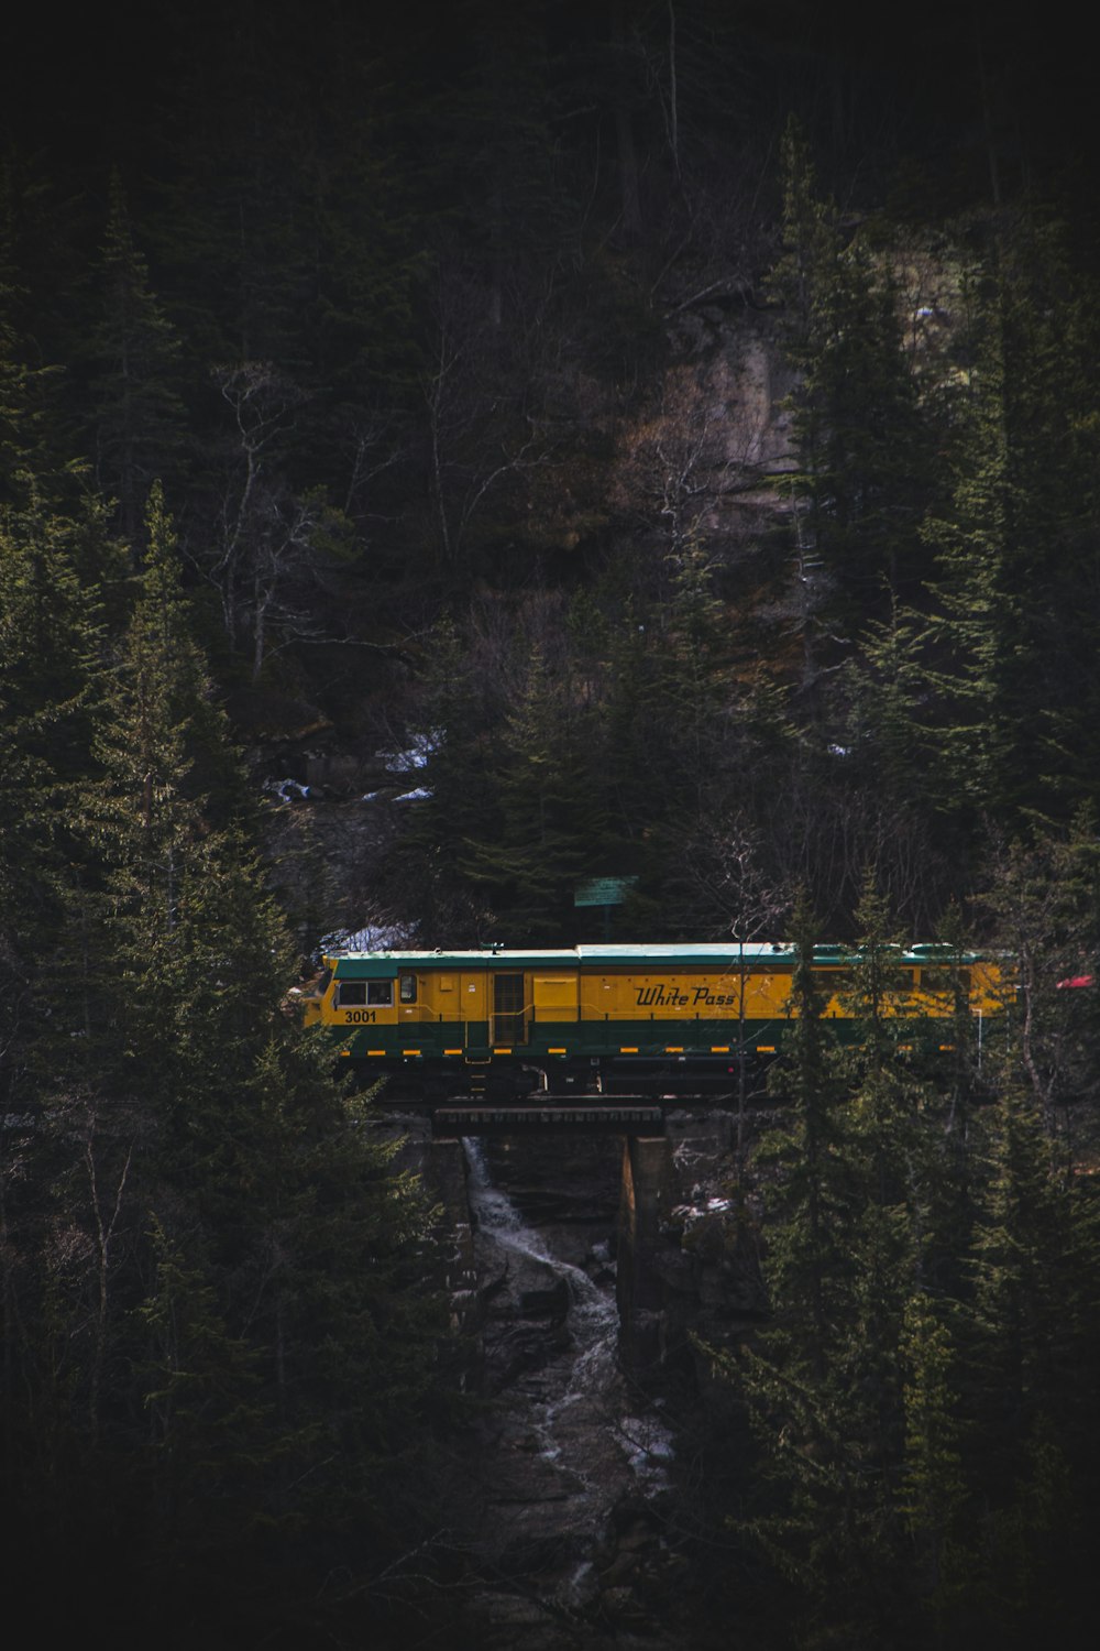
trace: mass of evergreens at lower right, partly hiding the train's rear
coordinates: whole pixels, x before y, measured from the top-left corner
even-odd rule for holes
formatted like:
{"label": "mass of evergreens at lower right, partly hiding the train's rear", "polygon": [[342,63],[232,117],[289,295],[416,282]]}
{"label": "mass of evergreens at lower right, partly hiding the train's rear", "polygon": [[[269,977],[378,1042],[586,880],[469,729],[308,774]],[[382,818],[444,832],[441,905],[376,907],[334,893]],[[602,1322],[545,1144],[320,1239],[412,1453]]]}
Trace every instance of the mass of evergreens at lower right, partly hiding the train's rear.
{"label": "mass of evergreens at lower right, partly hiding the train's rear", "polygon": [[[830,1052],[813,976],[805,961],[795,972],[775,1078],[788,1113],[752,1164],[769,1189],[772,1316],[722,1360],[759,1450],[755,1509],[736,1527],[793,1585],[792,1643],[955,1644],[996,1631],[1016,1644],[1047,1616],[1070,1638],[1082,1630],[1097,1486],[1095,1197],[1070,1172],[1032,1071],[1049,1071],[1039,1050],[1059,1043],[1075,996],[1037,982],[1064,966],[1059,931],[1074,944],[1095,910],[1090,870],[1084,824],[1070,840],[1018,849],[1001,870],[996,910],[1013,913],[1024,941],[1032,921],[1032,946],[1049,933],[1051,954],[1027,961],[1024,948],[1018,992],[1031,981],[1029,1004],[1001,1022],[1006,1047],[986,1030],[980,1073],[973,1029],[963,1035],[957,918],[940,964],[958,1038],[947,1071],[922,1076],[897,1048],[909,982],[871,880],[846,966],[853,1048]],[[797,926],[805,959],[803,908]],[[937,1042],[943,1030],[940,1020]]]}

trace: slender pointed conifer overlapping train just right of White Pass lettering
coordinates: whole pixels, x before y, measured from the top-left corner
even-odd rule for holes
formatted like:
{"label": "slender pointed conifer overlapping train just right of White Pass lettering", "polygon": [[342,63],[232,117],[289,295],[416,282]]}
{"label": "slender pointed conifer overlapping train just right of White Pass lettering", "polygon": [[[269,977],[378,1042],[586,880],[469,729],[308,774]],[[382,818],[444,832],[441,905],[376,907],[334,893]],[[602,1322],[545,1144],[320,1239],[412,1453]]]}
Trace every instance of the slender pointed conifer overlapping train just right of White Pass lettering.
{"label": "slender pointed conifer overlapping train just right of White Pass lettering", "polygon": [[805,900],[795,918],[792,1029],[777,1086],[792,1121],[765,1141],[757,1162],[775,1161],[773,1225],[765,1278],[772,1319],[731,1369],[760,1445],[767,1488],[744,1524],[777,1573],[793,1585],[800,1613],[833,1631],[874,1616],[871,1575],[881,1567],[881,1464],[867,1438],[858,1369],[861,1278],[853,1237],[859,1184],[851,1164],[844,1091],[821,1027],[813,925]]}

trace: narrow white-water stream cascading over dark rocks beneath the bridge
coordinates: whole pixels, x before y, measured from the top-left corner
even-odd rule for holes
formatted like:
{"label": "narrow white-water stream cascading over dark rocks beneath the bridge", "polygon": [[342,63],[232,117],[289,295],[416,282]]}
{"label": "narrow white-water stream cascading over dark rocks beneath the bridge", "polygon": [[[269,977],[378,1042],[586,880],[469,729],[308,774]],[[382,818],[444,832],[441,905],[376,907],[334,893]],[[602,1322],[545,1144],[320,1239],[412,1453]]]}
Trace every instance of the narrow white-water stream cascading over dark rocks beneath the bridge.
{"label": "narrow white-water stream cascading over dark rocks beneath the bridge", "polygon": [[[615,1357],[607,1245],[587,1268],[556,1255],[467,1141],[493,1403],[482,1430],[475,1549],[485,1646],[602,1646],[643,1628],[646,1582],[668,1565],[661,1502],[673,1441]],[[648,1646],[660,1644],[653,1628]]]}

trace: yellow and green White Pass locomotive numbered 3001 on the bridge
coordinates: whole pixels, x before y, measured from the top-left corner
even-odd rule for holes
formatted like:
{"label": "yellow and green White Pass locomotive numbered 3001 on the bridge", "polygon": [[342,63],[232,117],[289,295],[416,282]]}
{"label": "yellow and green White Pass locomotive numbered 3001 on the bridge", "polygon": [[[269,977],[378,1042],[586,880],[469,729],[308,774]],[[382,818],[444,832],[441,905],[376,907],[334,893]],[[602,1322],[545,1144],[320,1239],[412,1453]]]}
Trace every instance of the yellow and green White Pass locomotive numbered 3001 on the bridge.
{"label": "yellow and green White Pass locomotive numbered 3001 on the bridge", "polygon": [[[343,953],[325,959],[305,1019],[399,1095],[717,1093],[740,1060],[782,1050],[795,963],[783,943]],[[816,946],[813,969],[843,1038],[853,954]],[[1003,972],[978,954],[897,949],[889,977],[899,1048],[945,1047],[960,992],[978,1024],[1003,1009]]]}

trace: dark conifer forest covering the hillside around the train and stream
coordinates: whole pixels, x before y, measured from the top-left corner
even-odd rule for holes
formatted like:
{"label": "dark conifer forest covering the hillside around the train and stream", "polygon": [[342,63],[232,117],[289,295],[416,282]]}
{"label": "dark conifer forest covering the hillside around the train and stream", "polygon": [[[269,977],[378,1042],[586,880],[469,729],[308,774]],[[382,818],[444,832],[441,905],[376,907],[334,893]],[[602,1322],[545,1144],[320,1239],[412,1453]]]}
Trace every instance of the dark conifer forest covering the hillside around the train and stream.
{"label": "dark conifer forest covering the hillside around the train and stream", "polygon": [[[43,1634],[478,1643],[439,1212],[292,994],[366,926],[589,939],[617,878],[615,938],[863,959],[844,1052],[803,971],[731,1167],[769,1311],[679,1392],[683,1643],[1084,1643],[1084,58],[985,5],[12,23],[0,1451]],[[917,1070],[874,971],[933,939],[1016,1001]]]}

